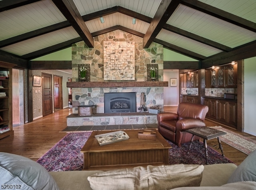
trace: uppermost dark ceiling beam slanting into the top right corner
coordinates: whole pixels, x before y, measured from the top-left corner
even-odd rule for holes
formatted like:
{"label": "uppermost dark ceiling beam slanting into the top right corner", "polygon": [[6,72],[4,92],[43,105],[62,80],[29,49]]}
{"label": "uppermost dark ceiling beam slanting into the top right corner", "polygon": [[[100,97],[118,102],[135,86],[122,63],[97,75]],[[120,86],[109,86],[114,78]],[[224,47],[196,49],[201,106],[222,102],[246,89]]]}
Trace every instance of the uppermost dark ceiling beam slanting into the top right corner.
{"label": "uppermost dark ceiling beam slanting into the top right corner", "polygon": [[206,3],[202,3],[198,0],[182,0],[181,4],[184,4],[190,8],[195,10],[199,10],[221,20],[225,20],[226,22],[230,22],[242,28],[246,28],[247,30],[251,30],[256,32],[256,23],[251,22],[250,20],[246,20],[224,10],[218,9],[214,6],[210,6]]}

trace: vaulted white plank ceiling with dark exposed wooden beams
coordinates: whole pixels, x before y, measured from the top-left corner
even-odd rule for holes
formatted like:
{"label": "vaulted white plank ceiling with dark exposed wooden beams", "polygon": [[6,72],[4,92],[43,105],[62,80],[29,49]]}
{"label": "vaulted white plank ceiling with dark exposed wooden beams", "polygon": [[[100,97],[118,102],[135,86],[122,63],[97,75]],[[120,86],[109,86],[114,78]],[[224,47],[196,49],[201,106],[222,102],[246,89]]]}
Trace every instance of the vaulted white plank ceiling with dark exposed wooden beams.
{"label": "vaulted white plank ceiling with dark exposed wooden beams", "polygon": [[0,28],[0,60],[19,65],[118,29],[202,68],[256,56],[256,0],[1,0]]}

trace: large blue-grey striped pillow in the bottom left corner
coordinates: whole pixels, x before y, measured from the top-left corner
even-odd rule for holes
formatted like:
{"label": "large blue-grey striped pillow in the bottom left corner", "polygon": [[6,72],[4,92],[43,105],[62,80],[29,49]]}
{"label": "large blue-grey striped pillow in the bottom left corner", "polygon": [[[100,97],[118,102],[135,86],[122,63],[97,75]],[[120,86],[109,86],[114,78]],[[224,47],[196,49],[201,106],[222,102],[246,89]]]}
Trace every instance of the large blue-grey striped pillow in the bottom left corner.
{"label": "large blue-grey striped pillow in the bottom left corner", "polygon": [[43,166],[29,158],[4,152],[0,152],[0,184],[22,190],[59,189]]}

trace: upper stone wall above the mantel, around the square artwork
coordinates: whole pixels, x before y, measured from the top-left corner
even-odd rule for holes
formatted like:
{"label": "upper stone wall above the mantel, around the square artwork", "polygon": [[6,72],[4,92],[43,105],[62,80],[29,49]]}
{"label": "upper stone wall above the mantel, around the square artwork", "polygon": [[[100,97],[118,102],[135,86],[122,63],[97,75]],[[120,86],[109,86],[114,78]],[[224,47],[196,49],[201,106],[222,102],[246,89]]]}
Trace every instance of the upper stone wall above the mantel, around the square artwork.
{"label": "upper stone wall above the mantel, around the square artwork", "polygon": [[[72,81],[78,82],[78,64],[90,64],[90,81],[104,80],[104,42],[134,42],[135,44],[135,81],[147,81],[147,64],[158,64],[158,81],[163,81],[163,46],[152,42],[143,49],[143,38],[115,30],[94,37],[94,48],[88,48],[84,41],[72,44]],[[112,80],[113,81],[113,80]],[[134,80],[131,80],[134,81]]]}

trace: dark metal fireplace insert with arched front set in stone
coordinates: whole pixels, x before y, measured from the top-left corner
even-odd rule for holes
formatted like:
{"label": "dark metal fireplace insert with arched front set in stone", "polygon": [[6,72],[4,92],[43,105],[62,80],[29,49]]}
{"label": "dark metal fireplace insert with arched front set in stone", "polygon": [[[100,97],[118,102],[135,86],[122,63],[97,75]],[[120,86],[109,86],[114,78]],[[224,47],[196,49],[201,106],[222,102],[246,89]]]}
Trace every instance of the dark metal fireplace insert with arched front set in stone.
{"label": "dark metal fireplace insert with arched front set in stone", "polygon": [[104,112],[136,112],[136,92],[104,93]]}

